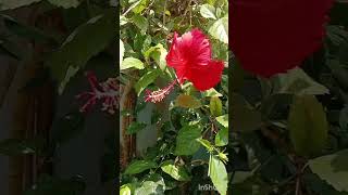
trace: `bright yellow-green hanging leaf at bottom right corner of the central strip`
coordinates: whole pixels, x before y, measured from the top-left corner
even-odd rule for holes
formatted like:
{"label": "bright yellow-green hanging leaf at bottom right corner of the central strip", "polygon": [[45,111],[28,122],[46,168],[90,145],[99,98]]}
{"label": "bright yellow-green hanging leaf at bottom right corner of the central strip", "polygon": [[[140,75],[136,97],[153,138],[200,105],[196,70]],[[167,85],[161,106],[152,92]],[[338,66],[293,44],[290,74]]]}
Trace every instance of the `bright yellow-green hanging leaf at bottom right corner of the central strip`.
{"label": "bright yellow-green hanging leaf at bottom right corner of the central strip", "polygon": [[226,167],[214,155],[210,155],[208,176],[210,177],[217,192],[221,195],[226,195],[228,183]]}

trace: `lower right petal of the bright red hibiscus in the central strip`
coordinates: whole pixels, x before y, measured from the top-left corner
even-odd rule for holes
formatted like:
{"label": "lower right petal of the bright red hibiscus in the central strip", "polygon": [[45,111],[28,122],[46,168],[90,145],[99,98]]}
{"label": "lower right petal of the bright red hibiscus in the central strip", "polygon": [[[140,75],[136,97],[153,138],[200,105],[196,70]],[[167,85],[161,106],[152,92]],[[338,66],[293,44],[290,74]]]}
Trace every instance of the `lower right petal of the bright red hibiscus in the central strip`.
{"label": "lower right petal of the bright red hibiscus in the central strip", "polygon": [[210,61],[208,65],[191,67],[187,79],[199,91],[206,91],[220,82],[223,69],[224,63],[222,61]]}

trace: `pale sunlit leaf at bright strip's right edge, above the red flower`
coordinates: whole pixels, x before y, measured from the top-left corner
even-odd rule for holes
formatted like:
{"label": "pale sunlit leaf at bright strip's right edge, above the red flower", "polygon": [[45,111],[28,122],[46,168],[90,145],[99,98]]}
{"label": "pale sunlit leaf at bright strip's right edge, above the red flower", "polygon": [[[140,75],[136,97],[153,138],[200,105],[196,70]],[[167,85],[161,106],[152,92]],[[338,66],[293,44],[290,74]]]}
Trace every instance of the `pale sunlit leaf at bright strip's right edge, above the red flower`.
{"label": "pale sunlit leaf at bright strip's right edge, above the red flower", "polygon": [[228,44],[228,17],[217,20],[210,28],[209,34],[215,39]]}

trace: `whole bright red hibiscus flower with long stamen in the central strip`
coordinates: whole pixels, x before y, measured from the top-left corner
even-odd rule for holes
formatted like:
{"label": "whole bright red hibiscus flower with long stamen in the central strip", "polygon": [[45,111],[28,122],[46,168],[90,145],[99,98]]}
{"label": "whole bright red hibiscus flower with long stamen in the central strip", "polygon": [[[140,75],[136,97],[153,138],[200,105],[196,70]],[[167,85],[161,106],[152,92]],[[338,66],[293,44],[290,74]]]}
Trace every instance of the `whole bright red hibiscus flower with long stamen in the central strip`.
{"label": "whole bright red hibiscus flower with long stamen in the central strip", "polygon": [[[216,86],[224,69],[222,61],[211,58],[211,46],[208,38],[199,29],[178,37],[174,32],[171,49],[166,55],[166,64],[176,72],[179,84],[185,80],[192,82],[199,91],[206,91]],[[158,91],[146,90],[146,102],[160,102],[174,88],[176,80]]]}

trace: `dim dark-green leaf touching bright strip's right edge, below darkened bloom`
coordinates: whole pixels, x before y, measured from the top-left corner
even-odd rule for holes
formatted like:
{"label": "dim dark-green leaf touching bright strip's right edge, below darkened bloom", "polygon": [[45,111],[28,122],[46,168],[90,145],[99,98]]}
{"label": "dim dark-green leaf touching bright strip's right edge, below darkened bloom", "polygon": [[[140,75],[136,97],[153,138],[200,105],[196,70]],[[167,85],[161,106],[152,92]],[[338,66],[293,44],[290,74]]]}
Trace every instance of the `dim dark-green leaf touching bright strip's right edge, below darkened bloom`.
{"label": "dim dark-green leaf touching bright strip's right edge, below darkened bloom", "polygon": [[232,123],[235,131],[250,132],[261,127],[261,113],[252,109],[243,95],[232,93]]}

